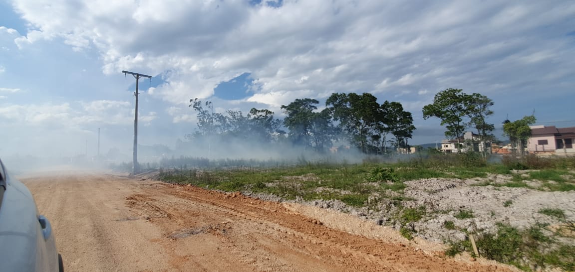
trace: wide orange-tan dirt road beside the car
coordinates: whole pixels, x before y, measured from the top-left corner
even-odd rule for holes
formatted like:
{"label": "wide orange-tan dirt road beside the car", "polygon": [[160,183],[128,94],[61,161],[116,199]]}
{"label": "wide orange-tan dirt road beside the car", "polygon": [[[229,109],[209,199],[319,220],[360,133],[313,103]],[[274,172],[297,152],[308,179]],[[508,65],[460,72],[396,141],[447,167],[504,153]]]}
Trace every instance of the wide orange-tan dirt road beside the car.
{"label": "wide orange-tan dirt road beside the car", "polygon": [[51,220],[67,271],[507,271],[239,193],[108,174],[22,181]]}

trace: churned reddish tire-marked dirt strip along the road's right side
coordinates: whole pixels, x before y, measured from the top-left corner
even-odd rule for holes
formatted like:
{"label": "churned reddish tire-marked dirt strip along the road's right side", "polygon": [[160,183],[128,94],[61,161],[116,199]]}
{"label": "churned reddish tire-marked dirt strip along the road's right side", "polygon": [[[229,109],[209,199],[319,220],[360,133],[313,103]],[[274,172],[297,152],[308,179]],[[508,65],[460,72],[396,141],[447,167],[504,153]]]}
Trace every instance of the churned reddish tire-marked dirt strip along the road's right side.
{"label": "churned reddish tire-marked dirt strip along the road's right side", "polygon": [[[329,229],[321,222],[298,215],[278,203],[269,203],[251,199],[238,193],[225,194],[206,191],[200,188],[163,185],[155,186],[148,194],[162,193],[162,200],[156,200],[162,207],[180,207],[179,212],[194,210],[209,213],[210,217],[202,218],[210,221],[214,218],[233,222],[231,229],[236,231],[231,236],[224,235],[225,242],[231,244],[233,255],[240,252],[250,252],[254,249],[247,245],[254,244],[259,248],[258,254],[240,255],[244,261],[257,259],[256,256],[265,253],[280,259],[298,259],[312,257],[319,262],[336,265],[336,270],[362,271],[505,271],[504,267],[482,266],[477,263],[458,263],[453,259],[435,255],[426,255],[414,251],[405,244],[385,243],[381,240],[363,238],[346,232]],[[149,200],[147,200],[149,201]],[[182,207],[187,207],[182,208]],[[181,218],[181,215],[175,215]],[[185,213],[182,215],[186,218]],[[191,218],[191,217],[189,217]],[[193,226],[197,220],[179,220],[179,227]],[[174,232],[171,223],[160,223],[167,232]],[[239,230],[239,231],[238,231]],[[239,240],[236,240],[239,239]],[[279,244],[278,244],[279,242]],[[240,246],[238,246],[240,244]],[[229,246],[228,246],[229,248]],[[239,249],[236,249],[239,248]],[[286,260],[286,261],[287,261]],[[257,262],[255,262],[257,263]],[[264,262],[265,263],[265,262]],[[283,262],[289,266],[289,262]],[[261,268],[262,266],[256,265]],[[294,267],[289,267],[294,269]]]}

